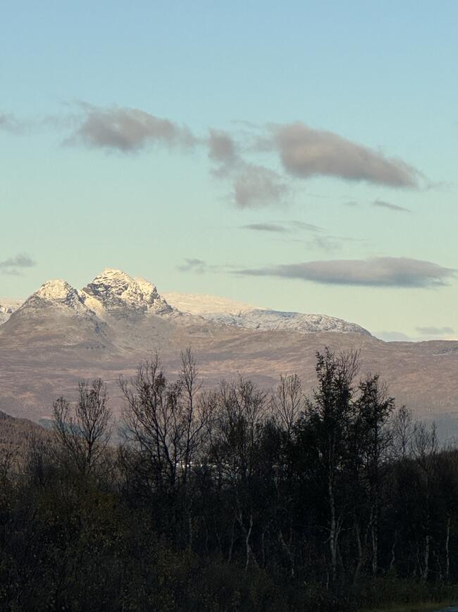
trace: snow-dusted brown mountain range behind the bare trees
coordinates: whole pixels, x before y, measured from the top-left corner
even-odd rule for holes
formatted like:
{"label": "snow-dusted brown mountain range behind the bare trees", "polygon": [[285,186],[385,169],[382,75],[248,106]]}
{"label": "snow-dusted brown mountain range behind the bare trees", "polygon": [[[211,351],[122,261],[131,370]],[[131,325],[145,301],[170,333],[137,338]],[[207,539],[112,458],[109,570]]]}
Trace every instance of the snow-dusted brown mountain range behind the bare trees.
{"label": "snow-dusted brown mountain range behind the bare trees", "polygon": [[[237,372],[268,387],[280,373],[314,385],[316,351],[359,349],[398,403],[419,416],[458,416],[458,342],[383,342],[355,323],[273,311],[213,296],[160,294],[154,284],[106,269],[78,290],[45,282],[25,301],[0,299],[0,409],[39,420],[80,378],[101,376],[118,404],[116,380],[159,352],[166,370],[192,347],[206,385]],[[457,430],[458,433],[458,430]]]}

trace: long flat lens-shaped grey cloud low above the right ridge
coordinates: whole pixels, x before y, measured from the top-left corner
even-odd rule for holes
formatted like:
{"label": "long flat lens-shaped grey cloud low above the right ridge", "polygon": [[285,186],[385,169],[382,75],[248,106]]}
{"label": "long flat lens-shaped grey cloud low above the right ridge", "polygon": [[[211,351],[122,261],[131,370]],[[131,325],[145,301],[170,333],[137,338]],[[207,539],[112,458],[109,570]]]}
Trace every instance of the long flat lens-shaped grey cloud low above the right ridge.
{"label": "long flat lens-shaped grey cloud low above the right ridge", "polygon": [[440,287],[456,275],[430,261],[404,257],[323,260],[273,265],[268,268],[238,270],[237,274],[276,276],[321,284],[362,287]]}

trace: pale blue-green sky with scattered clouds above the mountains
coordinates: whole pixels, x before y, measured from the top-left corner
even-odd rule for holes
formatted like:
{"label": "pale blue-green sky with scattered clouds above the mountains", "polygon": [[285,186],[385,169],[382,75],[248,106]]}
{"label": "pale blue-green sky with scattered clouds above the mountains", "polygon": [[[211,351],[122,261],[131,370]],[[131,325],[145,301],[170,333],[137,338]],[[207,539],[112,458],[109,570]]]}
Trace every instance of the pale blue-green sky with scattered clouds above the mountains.
{"label": "pale blue-green sky with scattered clouds above the mountains", "polygon": [[0,11],[0,296],[120,268],[458,338],[457,2]]}

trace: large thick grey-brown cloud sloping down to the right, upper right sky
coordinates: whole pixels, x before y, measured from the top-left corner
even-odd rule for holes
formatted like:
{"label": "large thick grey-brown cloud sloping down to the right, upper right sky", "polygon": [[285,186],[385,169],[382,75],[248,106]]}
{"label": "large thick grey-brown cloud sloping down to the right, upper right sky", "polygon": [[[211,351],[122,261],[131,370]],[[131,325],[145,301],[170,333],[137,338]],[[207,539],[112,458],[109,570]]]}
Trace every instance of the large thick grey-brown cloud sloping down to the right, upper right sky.
{"label": "large thick grey-brown cloud sloping down to the right, upper right sky", "polygon": [[271,127],[283,167],[302,179],[335,176],[392,187],[417,187],[419,172],[402,160],[385,157],[338,134],[297,121]]}

